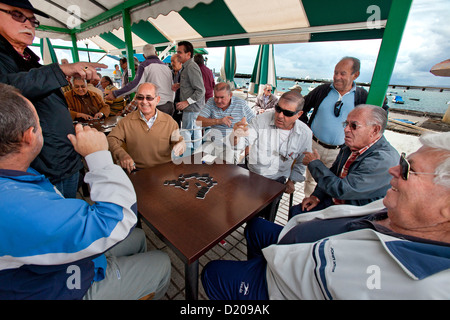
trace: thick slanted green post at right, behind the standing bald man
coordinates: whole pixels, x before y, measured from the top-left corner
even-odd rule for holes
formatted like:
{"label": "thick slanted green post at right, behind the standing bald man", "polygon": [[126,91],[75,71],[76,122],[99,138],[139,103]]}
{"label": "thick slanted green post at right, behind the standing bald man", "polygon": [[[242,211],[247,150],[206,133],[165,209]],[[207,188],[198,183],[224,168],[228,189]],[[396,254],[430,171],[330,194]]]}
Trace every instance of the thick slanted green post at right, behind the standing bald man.
{"label": "thick slanted green post at right, behind the standing bald man", "polygon": [[378,52],[367,103],[382,106],[394,70],[409,10],[413,0],[393,0]]}

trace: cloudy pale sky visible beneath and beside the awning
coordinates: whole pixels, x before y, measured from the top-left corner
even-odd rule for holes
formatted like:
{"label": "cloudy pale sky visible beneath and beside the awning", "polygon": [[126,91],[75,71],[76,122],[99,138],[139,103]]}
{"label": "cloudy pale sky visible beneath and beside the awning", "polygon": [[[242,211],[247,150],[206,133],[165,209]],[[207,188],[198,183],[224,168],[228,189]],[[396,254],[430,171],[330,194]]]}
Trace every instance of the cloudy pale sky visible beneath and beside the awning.
{"label": "cloudy pale sky visible beneath and beside the awning", "polygon": [[[391,84],[450,87],[450,77],[436,77],[430,69],[450,59],[450,0],[414,0],[403,33]],[[380,40],[275,45],[277,76],[331,78],[343,56],[361,60],[358,81],[370,82]],[[220,71],[224,48],[207,48],[208,67]],[[251,74],[258,46],[236,47],[237,72]]]}

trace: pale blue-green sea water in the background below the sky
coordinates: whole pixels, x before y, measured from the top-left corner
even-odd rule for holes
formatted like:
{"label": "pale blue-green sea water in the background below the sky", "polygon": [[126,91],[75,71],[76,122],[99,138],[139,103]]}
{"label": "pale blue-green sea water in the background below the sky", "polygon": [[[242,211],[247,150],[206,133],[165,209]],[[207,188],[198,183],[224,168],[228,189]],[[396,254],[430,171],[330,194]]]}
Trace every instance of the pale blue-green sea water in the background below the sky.
{"label": "pale blue-green sea water in the background below the sky", "polygon": [[[235,78],[235,82],[238,88],[248,88],[250,79]],[[278,80],[277,91],[289,91],[289,88],[291,88],[294,84],[294,81]],[[310,89],[320,85],[320,83],[313,84],[307,82],[298,82],[297,84],[302,87],[302,95],[304,96],[310,92]],[[364,88],[369,91],[368,87]],[[396,95],[401,96],[405,103],[397,104],[392,102],[392,99]],[[450,103],[450,89],[446,89],[443,92],[440,92],[438,89],[426,89],[425,91],[422,91],[422,89],[406,90],[402,87],[389,87],[386,96],[388,99],[388,106],[390,108],[427,111],[439,114],[444,114],[449,106],[447,103]]]}

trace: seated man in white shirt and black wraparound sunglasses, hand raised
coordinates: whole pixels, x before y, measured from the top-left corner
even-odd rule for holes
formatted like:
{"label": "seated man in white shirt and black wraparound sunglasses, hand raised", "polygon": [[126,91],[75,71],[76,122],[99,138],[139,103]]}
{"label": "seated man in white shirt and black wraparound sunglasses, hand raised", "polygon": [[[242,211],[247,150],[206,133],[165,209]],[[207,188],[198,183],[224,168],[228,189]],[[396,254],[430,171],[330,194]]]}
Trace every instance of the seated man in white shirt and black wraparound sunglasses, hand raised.
{"label": "seated man in white shirt and black wraparound sunglasses, hand raised", "polygon": [[[302,115],[303,96],[296,90],[283,93],[273,111],[264,112],[246,124],[246,119],[233,126],[233,146],[249,147],[247,167],[266,178],[286,184],[286,193],[295,191],[295,182],[305,180],[304,152],[311,151],[312,133],[297,119]],[[242,139],[241,137],[245,137]],[[281,196],[261,211],[274,221]]]}

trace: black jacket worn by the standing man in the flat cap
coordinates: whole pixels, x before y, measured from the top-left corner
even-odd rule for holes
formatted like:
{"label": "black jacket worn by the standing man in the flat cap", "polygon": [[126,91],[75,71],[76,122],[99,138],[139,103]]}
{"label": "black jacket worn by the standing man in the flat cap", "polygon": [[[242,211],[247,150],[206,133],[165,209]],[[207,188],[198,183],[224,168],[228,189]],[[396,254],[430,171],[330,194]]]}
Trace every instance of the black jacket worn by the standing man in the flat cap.
{"label": "black jacket worn by the standing man in the flat cap", "polygon": [[81,156],[67,135],[74,134],[70,112],[61,87],[67,80],[58,64],[42,66],[29,48],[26,61],[0,36],[0,82],[18,88],[30,100],[39,115],[44,146],[31,167],[46,175],[52,183],[65,179],[82,168]]}

